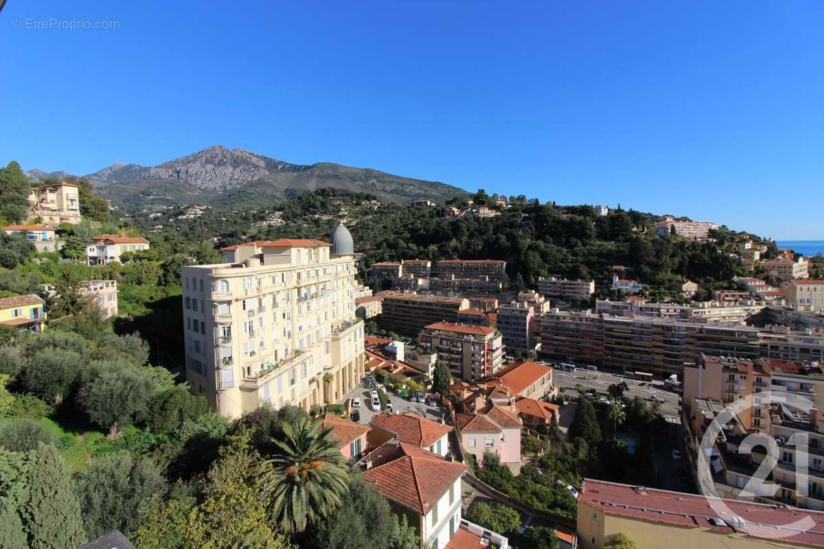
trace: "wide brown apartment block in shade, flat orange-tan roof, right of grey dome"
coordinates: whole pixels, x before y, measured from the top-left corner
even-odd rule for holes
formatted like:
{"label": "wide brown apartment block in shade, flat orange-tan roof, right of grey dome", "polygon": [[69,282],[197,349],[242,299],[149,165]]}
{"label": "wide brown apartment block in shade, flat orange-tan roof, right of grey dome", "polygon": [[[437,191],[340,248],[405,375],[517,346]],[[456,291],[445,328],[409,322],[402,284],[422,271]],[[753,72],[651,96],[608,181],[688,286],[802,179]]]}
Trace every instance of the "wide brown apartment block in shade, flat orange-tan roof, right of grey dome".
{"label": "wide brown apartment block in shade, flat orange-tan roof, right of grey dome", "polygon": [[395,294],[383,298],[381,328],[404,336],[418,337],[424,326],[435,322],[455,323],[469,300],[439,295]]}

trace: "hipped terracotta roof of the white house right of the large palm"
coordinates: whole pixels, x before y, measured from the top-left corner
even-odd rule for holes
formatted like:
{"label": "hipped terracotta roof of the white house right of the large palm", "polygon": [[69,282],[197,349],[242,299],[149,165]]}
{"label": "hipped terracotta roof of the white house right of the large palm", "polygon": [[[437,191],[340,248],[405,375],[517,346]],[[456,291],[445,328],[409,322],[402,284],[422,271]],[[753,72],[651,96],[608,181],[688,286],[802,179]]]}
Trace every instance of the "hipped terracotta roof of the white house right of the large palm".
{"label": "hipped terracotta roof of the white house right of the large palm", "polygon": [[387,500],[419,515],[427,514],[466,471],[462,463],[411,444],[401,442],[398,454],[398,458],[368,469],[363,478]]}

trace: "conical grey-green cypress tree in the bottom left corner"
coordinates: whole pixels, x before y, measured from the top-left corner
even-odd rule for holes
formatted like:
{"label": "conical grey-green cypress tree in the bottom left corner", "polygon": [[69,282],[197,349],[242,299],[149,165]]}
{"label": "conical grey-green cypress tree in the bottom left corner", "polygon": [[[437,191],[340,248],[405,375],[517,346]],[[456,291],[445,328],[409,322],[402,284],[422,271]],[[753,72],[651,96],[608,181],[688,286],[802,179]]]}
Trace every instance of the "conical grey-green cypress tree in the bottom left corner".
{"label": "conical grey-green cypress tree in the bottom left corner", "polygon": [[28,481],[29,498],[21,514],[29,547],[65,549],[86,542],[80,503],[54,446],[38,444]]}

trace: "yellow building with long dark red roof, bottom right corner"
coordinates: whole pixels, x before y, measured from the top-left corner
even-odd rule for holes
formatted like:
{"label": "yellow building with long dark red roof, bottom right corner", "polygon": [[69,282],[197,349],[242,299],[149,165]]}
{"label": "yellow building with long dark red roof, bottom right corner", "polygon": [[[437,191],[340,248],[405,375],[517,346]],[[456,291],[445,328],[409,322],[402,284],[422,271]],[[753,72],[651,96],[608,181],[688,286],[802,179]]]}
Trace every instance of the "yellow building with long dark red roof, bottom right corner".
{"label": "yellow building with long dark red roof, bottom right corner", "polygon": [[[644,549],[824,547],[824,513],[586,479],[578,547],[603,549],[624,533]],[[723,505],[723,507],[721,506]],[[812,524],[794,528],[799,519]]]}

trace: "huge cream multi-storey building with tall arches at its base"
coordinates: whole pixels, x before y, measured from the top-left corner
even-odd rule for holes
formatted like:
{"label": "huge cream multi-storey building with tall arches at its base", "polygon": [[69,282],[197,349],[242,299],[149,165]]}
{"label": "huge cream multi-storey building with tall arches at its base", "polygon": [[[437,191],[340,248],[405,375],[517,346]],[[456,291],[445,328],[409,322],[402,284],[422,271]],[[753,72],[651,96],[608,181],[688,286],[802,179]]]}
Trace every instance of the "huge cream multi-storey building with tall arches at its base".
{"label": "huge cream multi-storey building with tall arches at its base", "polygon": [[186,379],[224,416],[339,402],[363,376],[348,246],[274,240],[184,267]]}

